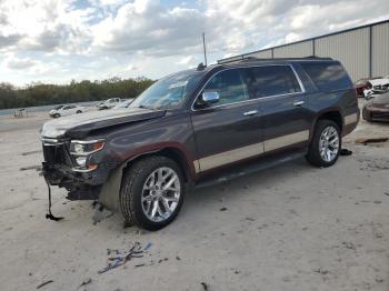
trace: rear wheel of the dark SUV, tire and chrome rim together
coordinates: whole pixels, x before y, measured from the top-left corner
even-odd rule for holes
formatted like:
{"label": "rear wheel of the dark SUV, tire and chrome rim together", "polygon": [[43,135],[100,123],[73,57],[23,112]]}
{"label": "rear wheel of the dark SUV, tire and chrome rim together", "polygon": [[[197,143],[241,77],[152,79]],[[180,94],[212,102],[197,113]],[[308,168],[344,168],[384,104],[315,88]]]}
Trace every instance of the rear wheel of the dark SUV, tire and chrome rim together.
{"label": "rear wheel of the dark SUV, tire and chrome rim together", "polygon": [[332,120],[319,120],[306,157],[308,162],[316,167],[330,167],[337,162],[340,149],[341,134],[338,124]]}

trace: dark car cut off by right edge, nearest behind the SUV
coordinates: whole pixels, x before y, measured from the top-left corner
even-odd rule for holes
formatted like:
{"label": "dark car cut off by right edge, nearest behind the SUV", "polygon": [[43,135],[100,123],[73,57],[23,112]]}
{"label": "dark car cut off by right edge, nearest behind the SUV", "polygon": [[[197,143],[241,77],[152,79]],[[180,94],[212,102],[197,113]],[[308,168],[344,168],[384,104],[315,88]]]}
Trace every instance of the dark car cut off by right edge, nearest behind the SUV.
{"label": "dark car cut off by right edge, nearest behind the SUV", "polygon": [[389,121],[389,92],[377,94],[362,109],[366,121]]}

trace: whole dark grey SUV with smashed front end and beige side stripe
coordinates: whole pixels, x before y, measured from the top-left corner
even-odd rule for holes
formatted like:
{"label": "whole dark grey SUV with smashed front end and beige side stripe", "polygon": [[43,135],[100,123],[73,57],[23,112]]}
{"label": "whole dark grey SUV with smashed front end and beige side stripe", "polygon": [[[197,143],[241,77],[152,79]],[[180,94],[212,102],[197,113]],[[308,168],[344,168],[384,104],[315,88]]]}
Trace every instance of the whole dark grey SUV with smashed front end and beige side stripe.
{"label": "whole dark grey SUV with smashed front end and beige side stripe", "polygon": [[298,154],[332,165],[358,121],[357,93],[338,61],[199,67],[157,81],[128,108],[47,122],[43,174],[68,199],[99,200],[158,230],[192,187]]}

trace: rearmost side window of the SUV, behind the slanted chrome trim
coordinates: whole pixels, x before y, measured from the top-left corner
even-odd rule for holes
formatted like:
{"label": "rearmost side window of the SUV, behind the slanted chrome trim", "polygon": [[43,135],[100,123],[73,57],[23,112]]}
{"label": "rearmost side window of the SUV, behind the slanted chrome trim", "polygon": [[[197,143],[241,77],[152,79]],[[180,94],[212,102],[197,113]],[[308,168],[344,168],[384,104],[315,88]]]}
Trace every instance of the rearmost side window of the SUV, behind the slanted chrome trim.
{"label": "rearmost side window of the SUV, behind the slanted chrome trim", "polygon": [[352,83],[340,63],[301,63],[309,77],[320,90],[351,88]]}

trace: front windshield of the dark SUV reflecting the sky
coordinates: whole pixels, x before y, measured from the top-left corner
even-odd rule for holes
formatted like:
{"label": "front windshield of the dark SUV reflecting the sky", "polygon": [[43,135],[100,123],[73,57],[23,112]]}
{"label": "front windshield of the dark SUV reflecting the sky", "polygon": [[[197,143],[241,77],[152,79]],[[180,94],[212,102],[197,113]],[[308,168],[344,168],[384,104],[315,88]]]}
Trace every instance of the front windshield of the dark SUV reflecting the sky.
{"label": "front windshield of the dark SUV reflecting the sky", "polygon": [[194,91],[203,74],[203,71],[184,71],[164,77],[141,93],[130,108],[177,108]]}

